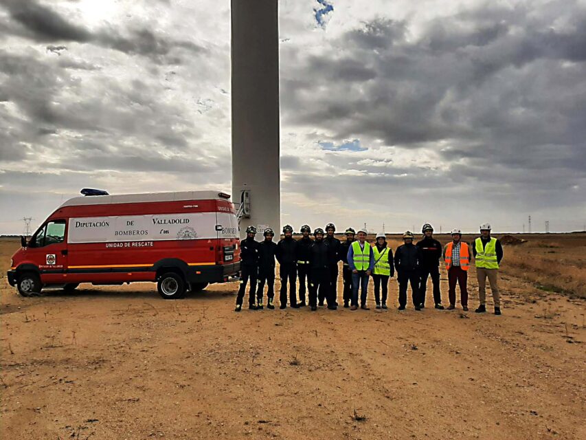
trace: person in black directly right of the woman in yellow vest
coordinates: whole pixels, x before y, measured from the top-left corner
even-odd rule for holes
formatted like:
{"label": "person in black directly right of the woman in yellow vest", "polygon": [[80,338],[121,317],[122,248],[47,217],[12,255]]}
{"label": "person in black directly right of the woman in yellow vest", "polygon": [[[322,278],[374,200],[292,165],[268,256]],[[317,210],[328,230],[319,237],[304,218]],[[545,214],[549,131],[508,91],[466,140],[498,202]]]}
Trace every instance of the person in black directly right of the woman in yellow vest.
{"label": "person in black directly right of the woman in yellow vest", "polygon": [[421,300],[419,298],[419,267],[420,267],[420,250],[413,244],[414,236],[412,232],[407,231],[403,234],[405,244],[399,246],[395,251],[395,269],[397,271],[397,281],[399,283],[399,310],[405,310],[407,305],[407,284],[411,285],[413,305],[416,310],[421,310]]}

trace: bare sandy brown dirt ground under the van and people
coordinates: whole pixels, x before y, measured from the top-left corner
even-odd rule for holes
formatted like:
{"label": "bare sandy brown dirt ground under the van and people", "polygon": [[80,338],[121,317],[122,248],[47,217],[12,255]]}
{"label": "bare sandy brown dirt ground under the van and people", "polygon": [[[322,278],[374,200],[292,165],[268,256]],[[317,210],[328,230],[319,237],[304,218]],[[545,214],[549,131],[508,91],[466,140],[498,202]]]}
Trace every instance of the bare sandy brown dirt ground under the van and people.
{"label": "bare sandy brown dirt ground under the van and people", "polygon": [[[429,290],[399,312],[396,279],[386,311],[370,292],[370,311],[235,314],[235,283],[21,298],[5,278],[18,245],[0,241],[3,439],[586,438],[585,300],[506,260],[502,316],[430,309]],[[473,310],[473,269],[469,284]]]}

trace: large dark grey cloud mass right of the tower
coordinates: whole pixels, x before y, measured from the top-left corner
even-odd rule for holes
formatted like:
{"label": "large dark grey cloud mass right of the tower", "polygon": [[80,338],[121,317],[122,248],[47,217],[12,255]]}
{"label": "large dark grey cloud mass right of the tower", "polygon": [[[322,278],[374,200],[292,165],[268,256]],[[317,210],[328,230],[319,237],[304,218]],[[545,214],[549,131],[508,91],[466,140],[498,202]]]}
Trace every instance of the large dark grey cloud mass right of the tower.
{"label": "large dark grey cloud mass right of the tower", "polygon": [[565,185],[576,182],[563,170],[586,166],[584,3],[482,3],[416,37],[409,27],[363,23],[319,58],[283,47],[284,121],[339,140],[425,146],[472,168],[497,163],[511,175],[553,166]]}

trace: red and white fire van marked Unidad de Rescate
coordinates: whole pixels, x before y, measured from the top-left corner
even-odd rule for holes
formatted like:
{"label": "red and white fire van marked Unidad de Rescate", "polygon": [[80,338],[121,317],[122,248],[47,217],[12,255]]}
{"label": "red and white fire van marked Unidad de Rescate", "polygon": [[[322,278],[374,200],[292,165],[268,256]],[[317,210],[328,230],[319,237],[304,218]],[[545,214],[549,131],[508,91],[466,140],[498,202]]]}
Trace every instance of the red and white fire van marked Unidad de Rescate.
{"label": "red and white fire van marked Unidad de Rescate", "polygon": [[8,281],[23,296],[43,287],[153,281],[163,298],[229,281],[240,271],[229,197],[218,191],[74,197],[30,241],[21,240]]}

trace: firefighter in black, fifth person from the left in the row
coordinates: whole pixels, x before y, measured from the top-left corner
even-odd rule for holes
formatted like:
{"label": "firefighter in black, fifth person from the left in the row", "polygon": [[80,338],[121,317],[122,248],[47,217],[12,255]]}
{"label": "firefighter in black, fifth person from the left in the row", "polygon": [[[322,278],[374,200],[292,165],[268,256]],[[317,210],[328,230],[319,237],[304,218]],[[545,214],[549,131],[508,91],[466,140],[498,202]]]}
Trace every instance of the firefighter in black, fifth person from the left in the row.
{"label": "firefighter in black, fifth person from the left in the row", "polygon": [[[311,278],[309,283],[309,305],[311,311],[317,310],[317,297],[328,296],[330,290],[330,250],[328,243],[324,241],[324,230],[317,228],[313,231],[315,241],[309,252],[309,266],[311,267]],[[328,296],[329,298],[329,296]],[[328,309],[335,310],[334,303],[328,302]]]}

